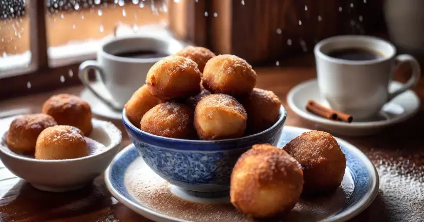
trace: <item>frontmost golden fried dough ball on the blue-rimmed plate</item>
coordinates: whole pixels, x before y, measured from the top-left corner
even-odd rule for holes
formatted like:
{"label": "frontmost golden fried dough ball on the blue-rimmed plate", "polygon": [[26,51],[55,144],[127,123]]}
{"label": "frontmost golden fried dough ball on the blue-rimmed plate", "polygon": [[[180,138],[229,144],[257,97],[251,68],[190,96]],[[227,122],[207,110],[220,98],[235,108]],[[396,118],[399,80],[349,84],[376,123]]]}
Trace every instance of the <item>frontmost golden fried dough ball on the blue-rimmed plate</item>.
{"label": "frontmost golden fried dough ball on the blue-rimmed plate", "polygon": [[302,168],[293,157],[272,145],[257,144],[232,170],[230,200],[254,218],[275,217],[293,209],[302,186]]}

